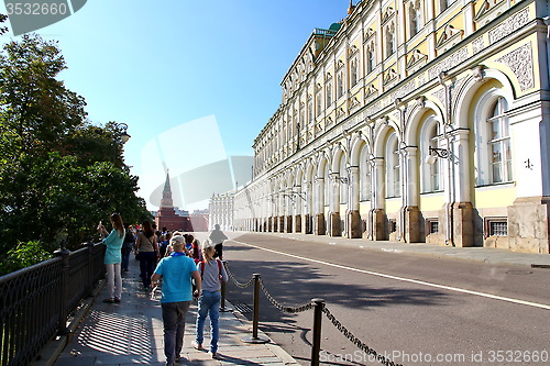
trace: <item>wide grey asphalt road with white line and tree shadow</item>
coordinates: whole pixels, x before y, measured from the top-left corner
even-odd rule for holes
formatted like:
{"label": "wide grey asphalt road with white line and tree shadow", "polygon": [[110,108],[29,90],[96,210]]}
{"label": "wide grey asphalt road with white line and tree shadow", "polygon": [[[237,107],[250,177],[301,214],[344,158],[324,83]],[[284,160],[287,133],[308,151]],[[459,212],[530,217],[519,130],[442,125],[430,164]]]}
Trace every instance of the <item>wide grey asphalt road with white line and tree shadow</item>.
{"label": "wide grey asphalt road with white line and tree shadow", "polygon": [[[233,276],[262,275],[278,302],[323,298],[358,339],[403,365],[549,365],[550,270],[384,253],[244,234],[224,244]],[[252,308],[252,287],[228,299]],[[260,328],[310,363],[312,310],[287,314],[262,293]],[[252,313],[244,313],[252,317]],[[321,362],[381,365],[323,317]]]}

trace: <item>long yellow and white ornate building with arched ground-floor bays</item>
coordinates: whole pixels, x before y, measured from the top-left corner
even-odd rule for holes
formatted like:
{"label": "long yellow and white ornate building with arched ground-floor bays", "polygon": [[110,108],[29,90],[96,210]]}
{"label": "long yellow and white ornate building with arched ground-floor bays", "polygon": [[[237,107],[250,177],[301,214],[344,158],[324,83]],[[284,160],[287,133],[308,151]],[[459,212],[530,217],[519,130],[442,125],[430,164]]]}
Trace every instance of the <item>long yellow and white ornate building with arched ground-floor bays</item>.
{"label": "long yellow and white ornate building with arched ground-floor bays", "polygon": [[549,253],[549,9],[350,4],[284,76],[235,228]]}

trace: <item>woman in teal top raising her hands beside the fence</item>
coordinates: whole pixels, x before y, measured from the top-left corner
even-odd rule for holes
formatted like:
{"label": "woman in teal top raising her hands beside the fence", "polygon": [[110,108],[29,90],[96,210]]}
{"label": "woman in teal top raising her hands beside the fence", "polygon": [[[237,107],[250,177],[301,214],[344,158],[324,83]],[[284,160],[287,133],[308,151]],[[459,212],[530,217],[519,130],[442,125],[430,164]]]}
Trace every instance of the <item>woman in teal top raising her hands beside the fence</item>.
{"label": "woman in teal top raising her hands beside the fence", "polygon": [[107,289],[109,291],[109,298],[105,299],[103,302],[107,303],[120,302],[122,296],[122,276],[120,274],[120,267],[122,262],[122,243],[124,242],[125,235],[120,214],[111,214],[111,225],[112,230],[110,233],[107,232],[101,221],[98,225],[98,232],[105,237],[103,244],[107,246],[103,259],[107,270]]}

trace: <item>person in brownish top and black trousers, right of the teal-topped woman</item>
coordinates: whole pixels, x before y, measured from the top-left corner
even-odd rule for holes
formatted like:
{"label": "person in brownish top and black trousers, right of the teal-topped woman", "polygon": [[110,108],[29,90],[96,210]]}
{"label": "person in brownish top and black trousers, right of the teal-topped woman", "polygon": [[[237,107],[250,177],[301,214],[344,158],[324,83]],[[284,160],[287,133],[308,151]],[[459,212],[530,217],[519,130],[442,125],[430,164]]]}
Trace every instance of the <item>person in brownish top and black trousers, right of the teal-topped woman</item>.
{"label": "person in brownish top and black trousers, right of the teal-topped woman", "polygon": [[142,226],[143,231],[138,235],[135,247],[138,258],[140,259],[140,276],[143,281],[143,288],[148,289],[151,286],[151,276],[153,276],[160,252],[151,222],[145,220]]}

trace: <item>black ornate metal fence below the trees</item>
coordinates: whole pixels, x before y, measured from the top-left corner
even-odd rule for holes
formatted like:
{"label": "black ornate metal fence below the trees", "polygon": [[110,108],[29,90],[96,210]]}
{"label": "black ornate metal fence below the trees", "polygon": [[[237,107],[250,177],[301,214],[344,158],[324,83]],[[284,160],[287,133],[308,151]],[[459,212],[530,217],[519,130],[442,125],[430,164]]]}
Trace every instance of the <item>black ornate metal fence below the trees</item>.
{"label": "black ornate metal fence below the trees", "polygon": [[56,257],[0,277],[0,365],[24,366],[56,335],[105,276],[105,246],[56,251]]}

